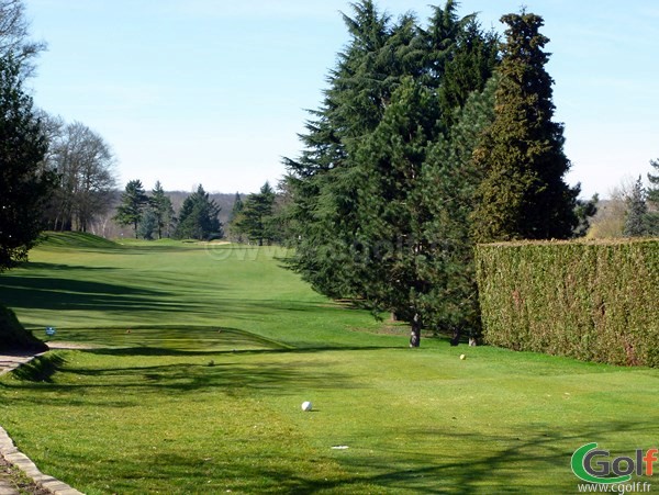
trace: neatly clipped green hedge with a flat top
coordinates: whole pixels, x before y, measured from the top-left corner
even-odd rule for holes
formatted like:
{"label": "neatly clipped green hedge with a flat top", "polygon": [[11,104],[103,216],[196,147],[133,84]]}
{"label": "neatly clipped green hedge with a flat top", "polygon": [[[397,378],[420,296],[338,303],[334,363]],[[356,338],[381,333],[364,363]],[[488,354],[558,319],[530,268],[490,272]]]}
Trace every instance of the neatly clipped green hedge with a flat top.
{"label": "neatly clipped green hedge with a flat top", "polygon": [[480,245],[488,344],[659,367],[659,240]]}

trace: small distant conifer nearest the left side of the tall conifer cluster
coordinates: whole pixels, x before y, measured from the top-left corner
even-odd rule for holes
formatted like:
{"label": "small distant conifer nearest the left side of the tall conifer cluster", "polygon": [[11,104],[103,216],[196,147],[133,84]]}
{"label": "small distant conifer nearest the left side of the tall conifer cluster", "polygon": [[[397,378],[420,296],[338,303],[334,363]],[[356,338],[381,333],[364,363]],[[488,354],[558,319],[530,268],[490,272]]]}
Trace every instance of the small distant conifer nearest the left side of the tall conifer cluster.
{"label": "small distant conifer nearest the left side of the tall conifer cluster", "polygon": [[275,191],[268,182],[261,187],[258,193],[249,194],[236,216],[237,233],[244,234],[259,246],[270,244],[276,237],[272,218],[275,199]]}

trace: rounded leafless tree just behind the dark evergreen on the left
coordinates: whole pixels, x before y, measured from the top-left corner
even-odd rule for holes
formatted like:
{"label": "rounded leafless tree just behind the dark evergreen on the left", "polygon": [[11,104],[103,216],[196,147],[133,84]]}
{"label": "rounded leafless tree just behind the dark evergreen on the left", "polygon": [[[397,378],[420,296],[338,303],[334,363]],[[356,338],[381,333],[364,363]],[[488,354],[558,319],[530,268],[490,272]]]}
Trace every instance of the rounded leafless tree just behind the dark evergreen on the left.
{"label": "rounded leafless tree just behind the dark evergreen on the left", "polygon": [[114,200],[116,179],[110,146],[98,133],[74,122],[52,136],[48,166],[59,177],[47,216],[51,228],[87,232]]}

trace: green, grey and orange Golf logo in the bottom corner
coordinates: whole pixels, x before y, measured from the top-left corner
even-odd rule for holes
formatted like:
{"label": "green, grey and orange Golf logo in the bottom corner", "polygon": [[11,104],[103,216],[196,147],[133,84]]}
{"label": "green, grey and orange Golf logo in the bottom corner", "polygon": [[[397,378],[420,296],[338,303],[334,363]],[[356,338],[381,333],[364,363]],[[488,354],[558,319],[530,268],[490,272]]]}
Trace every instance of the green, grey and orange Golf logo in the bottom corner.
{"label": "green, grey and orange Golf logo in the bottom corner", "polygon": [[655,462],[659,461],[659,449],[636,449],[634,457],[619,455],[611,459],[607,450],[597,449],[597,443],[587,443],[574,451],[571,460],[577,477],[597,484],[621,484],[632,475],[651,476]]}

